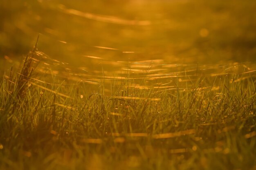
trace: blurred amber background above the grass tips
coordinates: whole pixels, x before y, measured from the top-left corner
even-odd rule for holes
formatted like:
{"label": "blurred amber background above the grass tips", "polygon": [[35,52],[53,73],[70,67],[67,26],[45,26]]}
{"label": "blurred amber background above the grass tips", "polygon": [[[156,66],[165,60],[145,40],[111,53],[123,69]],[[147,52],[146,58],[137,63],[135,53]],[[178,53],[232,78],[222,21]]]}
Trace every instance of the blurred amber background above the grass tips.
{"label": "blurred amber background above the grass tips", "polygon": [[[256,61],[255,0],[1,0],[0,57]],[[1,62],[2,64],[5,62]]]}

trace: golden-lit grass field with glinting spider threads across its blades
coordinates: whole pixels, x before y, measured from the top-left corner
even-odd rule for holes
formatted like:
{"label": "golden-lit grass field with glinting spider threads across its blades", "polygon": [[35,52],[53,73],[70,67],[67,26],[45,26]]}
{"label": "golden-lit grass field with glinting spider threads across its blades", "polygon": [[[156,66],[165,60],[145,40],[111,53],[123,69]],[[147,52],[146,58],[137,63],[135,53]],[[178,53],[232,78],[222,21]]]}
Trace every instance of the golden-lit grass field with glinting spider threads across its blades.
{"label": "golden-lit grass field with glinting spider threads across its blades", "polygon": [[255,168],[253,63],[60,63],[35,49],[4,73],[0,169]]}

